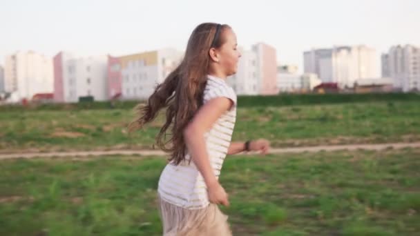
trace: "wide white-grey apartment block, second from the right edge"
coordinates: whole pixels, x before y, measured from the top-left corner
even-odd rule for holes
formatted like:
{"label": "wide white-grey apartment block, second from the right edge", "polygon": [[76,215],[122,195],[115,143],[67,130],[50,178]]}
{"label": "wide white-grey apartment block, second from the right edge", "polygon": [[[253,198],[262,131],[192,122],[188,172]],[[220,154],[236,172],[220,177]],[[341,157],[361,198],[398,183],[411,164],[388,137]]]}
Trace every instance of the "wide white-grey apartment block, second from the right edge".
{"label": "wide white-grey apartment block, second from the right edge", "polygon": [[304,52],[304,72],[324,83],[352,88],[356,79],[378,77],[376,52],[367,46],[341,46]]}

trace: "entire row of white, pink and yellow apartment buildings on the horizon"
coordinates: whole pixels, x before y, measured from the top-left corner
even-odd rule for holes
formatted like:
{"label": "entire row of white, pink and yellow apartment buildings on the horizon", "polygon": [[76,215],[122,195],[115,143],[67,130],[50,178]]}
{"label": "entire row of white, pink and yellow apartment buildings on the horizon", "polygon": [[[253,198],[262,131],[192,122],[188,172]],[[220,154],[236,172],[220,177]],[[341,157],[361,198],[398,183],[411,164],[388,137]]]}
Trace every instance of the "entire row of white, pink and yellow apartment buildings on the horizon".
{"label": "entire row of white, pink and yellow apartment buildings on the horizon", "polygon": [[[296,66],[278,66],[276,48],[267,44],[257,43],[252,50],[240,50],[242,60],[238,71],[227,81],[238,95],[311,92],[325,86],[336,92],[339,89],[355,92],[420,90],[420,48],[414,46],[392,46],[388,54],[383,54],[381,68],[385,74],[382,77],[374,72],[375,50],[365,46],[304,52],[304,74],[299,74]],[[180,59],[182,52],[169,48],[122,57],[83,58],[59,52],[53,60],[33,51],[18,52],[7,57],[5,89],[11,92],[9,101],[50,92],[54,93],[55,101],[61,102],[75,102],[86,96],[99,101],[116,97],[144,99]]]}

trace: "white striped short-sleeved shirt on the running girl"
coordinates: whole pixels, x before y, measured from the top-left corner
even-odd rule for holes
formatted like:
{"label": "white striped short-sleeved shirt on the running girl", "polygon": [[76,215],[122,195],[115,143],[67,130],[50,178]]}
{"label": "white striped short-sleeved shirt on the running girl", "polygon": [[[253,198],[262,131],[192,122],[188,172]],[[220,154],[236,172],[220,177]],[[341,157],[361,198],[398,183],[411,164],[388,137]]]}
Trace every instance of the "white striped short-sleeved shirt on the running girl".
{"label": "white striped short-sleeved shirt on the running girl", "polygon": [[[233,106],[220,115],[211,128],[204,133],[210,164],[216,178],[218,178],[235,126],[236,94],[224,79],[211,75],[207,77],[203,104],[216,97],[227,97],[233,101]],[[165,166],[160,175],[158,193],[164,201],[175,206],[191,210],[204,208],[209,205],[207,186],[193,161],[188,161],[191,159],[189,153],[187,153],[185,159],[178,166],[173,163]]]}

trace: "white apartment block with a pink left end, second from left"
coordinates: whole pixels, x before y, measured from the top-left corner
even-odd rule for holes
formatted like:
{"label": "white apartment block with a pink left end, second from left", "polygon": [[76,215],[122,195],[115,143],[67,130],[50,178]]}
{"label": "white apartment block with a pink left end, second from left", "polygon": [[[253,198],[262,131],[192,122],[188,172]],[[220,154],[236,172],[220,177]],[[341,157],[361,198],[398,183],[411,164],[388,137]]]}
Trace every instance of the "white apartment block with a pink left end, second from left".
{"label": "white apartment block with a pink left end, second from left", "polygon": [[95,101],[108,100],[108,58],[77,58],[68,52],[54,57],[54,100],[77,102],[79,97],[92,96]]}

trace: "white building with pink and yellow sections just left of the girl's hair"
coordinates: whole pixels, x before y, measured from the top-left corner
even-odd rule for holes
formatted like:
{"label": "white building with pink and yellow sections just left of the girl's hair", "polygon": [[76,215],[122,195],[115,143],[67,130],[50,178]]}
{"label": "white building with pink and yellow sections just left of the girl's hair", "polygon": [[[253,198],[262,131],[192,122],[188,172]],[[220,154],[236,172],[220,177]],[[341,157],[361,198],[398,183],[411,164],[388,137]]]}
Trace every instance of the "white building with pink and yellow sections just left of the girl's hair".
{"label": "white building with pink and yellow sections just left of the girl's hair", "polygon": [[147,99],[182,60],[182,52],[165,48],[122,57],[108,57],[108,95]]}

